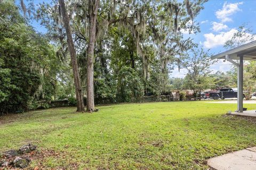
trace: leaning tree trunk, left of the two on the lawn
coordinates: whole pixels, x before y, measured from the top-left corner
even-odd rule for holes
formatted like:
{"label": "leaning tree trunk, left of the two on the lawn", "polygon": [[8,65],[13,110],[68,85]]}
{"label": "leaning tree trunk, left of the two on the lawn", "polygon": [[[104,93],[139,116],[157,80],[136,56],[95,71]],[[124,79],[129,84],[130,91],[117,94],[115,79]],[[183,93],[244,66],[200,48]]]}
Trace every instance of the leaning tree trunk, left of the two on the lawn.
{"label": "leaning tree trunk, left of the two on the lawn", "polygon": [[83,91],[81,88],[81,81],[80,81],[79,72],[78,72],[76,50],[75,50],[75,46],[74,46],[74,42],[73,42],[73,38],[72,38],[72,34],[71,34],[69,18],[68,18],[68,14],[66,11],[64,0],[59,0],[59,4],[60,4],[60,11],[61,11],[62,19],[63,19],[64,26],[66,29],[68,49],[69,49],[71,65],[72,65],[72,69],[73,69],[75,89],[76,89],[77,112],[81,112],[81,111],[84,111],[84,101],[83,101]]}

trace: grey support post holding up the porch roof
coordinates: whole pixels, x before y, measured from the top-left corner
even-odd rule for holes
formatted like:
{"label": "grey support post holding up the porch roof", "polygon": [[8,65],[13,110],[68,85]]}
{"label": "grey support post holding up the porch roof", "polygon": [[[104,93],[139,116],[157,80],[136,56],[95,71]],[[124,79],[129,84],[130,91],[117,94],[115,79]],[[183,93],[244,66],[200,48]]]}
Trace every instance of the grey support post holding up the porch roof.
{"label": "grey support post holding up the porch roof", "polygon": [[237,79],[237,102],[238,102],[238,108],[237,111],[238,112],[243,112],[243,98],[244,98],[244,94],[243,94],[243,86],[244,86],[244,79],[243,79],[243,71],[244,71],[244,60],[243,60],[243,56],[240,56],[240,64],[238,67],[238,79]]}

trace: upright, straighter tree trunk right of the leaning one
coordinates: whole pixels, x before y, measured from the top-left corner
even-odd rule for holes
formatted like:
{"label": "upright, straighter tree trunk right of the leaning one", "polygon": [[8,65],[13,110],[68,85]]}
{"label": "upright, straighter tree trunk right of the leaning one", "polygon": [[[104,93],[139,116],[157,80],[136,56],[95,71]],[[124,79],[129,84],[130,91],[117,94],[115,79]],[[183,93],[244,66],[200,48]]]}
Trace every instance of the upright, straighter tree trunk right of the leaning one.
{"label": "upright, straighter tree trunk right of the leaning one", "polygon": [[94,45],[96,41],[96,22],[98,13],[98,0],[90,0],[90,32],[89,46],[87,51],[87,112],[94,111],[94,91],[93,91],[93,60],[94,60]]}

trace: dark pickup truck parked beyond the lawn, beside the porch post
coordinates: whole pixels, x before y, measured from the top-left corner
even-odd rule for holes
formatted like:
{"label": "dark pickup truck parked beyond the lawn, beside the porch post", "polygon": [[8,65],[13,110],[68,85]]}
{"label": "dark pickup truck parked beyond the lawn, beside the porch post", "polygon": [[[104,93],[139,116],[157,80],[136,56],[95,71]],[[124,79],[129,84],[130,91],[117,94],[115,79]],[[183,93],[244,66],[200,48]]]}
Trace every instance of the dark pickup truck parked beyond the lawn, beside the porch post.
{"label": "dark pickup truck parked beyond the lawn, beside the porch post", "polygon": [[220,91],[210,92],[210,97],[214,100],[219,98],[237,98],[237,89],[236,88],[223,88]]}

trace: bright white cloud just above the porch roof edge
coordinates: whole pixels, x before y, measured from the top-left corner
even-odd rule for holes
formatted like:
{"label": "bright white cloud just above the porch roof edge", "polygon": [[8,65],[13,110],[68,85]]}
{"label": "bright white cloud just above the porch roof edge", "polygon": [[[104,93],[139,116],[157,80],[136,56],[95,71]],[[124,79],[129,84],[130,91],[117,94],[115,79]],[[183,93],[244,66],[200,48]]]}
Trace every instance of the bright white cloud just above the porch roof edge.
{"label": "bright white cloud just above the porch roof edge", "polygon": [[236,29],[231,29],[228,32],[220,32],[217,35],[214,35],[213,33],[206,33],[204,34],[204,37],[205,37],[204,47],[213,48],[217,46],[223,46],[227,40],[233,37],[235,32],[237,32]]}

